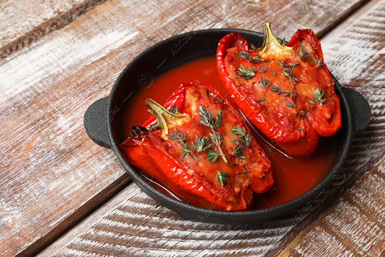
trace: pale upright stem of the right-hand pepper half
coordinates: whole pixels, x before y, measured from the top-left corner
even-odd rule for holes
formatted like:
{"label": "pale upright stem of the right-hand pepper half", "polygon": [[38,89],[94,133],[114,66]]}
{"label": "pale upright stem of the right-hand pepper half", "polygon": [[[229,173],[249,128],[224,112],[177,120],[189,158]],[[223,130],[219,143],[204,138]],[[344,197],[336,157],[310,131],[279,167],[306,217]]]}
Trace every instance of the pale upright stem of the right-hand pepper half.
{"label": "pale upright stem of the right-hand pepper half", "polygon": [[293,48],[285,45],[285,42],[282,44],[275,37],[270,28],[270,22],[263,24],[263,45],[257,50],[261,57],[266,55],[276,55],[281,52],[293,51]]}

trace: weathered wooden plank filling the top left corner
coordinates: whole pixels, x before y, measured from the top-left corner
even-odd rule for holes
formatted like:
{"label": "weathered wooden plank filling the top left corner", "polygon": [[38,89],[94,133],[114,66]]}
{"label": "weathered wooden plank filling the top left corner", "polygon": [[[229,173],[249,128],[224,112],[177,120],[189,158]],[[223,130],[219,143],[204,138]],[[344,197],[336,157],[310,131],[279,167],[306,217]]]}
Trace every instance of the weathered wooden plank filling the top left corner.
{"label": "weathered wooden plank filling the top left corner", "polygon": [[105,0],[1,0],[0,58],[69,24]]}

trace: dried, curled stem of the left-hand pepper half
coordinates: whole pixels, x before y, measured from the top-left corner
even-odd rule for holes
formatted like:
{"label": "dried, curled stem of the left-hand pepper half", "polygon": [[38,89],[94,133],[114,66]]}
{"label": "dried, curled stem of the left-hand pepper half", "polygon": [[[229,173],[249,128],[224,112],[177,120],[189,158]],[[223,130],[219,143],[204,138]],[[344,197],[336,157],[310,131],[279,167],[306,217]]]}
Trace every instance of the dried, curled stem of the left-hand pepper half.
{"label": "dried, curled stem of the left-hand pepper half", "polygon": [[151,97],[147,98],[144,104],[149,108],[147,112],[156,116],[156,121],[162,129],[162,136],[164,137],[168,135],[170,125],[180,125],[182,119],[186,117],[186,114],[179,113],[177,108],[174,109],[175,113],[172,113],[154,101]]}

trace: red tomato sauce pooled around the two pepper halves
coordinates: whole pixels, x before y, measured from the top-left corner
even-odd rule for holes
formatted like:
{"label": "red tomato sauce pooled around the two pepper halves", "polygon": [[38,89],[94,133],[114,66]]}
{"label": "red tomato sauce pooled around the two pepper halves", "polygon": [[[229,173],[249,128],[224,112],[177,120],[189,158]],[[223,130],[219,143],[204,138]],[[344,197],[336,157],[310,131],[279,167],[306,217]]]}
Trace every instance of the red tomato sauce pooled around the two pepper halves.
{"label": "red tomato sauce pooled around the two pepper halves", "polygon": [[[150,114],[147,113],[147,107],[144,105],[144,101],[148,97],[152,97],[155,101],[163,104],[182,82],[199,80],[210,84],[221,92],[233,104],[234,108],[239,111],[223,87],[217,72],[214,56],[192,60],[154,79],[149,78],[149,76],[146,79],[147,81],[144,84],[146,86],[139,88],[130,97],[131,101],[127,106],[123,124],[125,138],[129,137],[132,126],[142,125],[149,117]],[[309,156],[303,158],[290,157],[283,150],[275,147],[275,143],[264,136],[247,119],[246,122],[259,146],[261,146],[271,161],[274,178],[274,184],[269,191],[262,194],[254,193],[252,209],[272,207],[299,197],[325,178],[333,165],[336,151],[338,150],[337,147],[333,147],[336,144],[334,136],[328,138],[320,137],[318,148]],[[167,188],[167,186],[162,185],[161,182],[149,177],[147,179],[149,183],[167,195],[184,202],[210,208],[208,202],[206,203],[206,201],[201,201],[197,197],[192,197],[191,194],[186,193],[182,195],[180,192],[177,194],[170,188]]]}

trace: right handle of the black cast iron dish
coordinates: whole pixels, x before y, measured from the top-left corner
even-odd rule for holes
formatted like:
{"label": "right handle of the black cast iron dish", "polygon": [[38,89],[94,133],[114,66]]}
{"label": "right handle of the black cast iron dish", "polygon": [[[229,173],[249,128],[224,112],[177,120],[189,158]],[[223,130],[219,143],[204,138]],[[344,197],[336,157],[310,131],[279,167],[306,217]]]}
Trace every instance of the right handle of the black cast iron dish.
{"label": "right handle of the black cast iron dish", "polygon": [[372,112],[370,111],[370,105],[365,97],[359,92],[348,87],[341,87],[343,93],[348,100],[350,109],[353,116],[353,135],[361,133],[368,125],[372,118]]}

